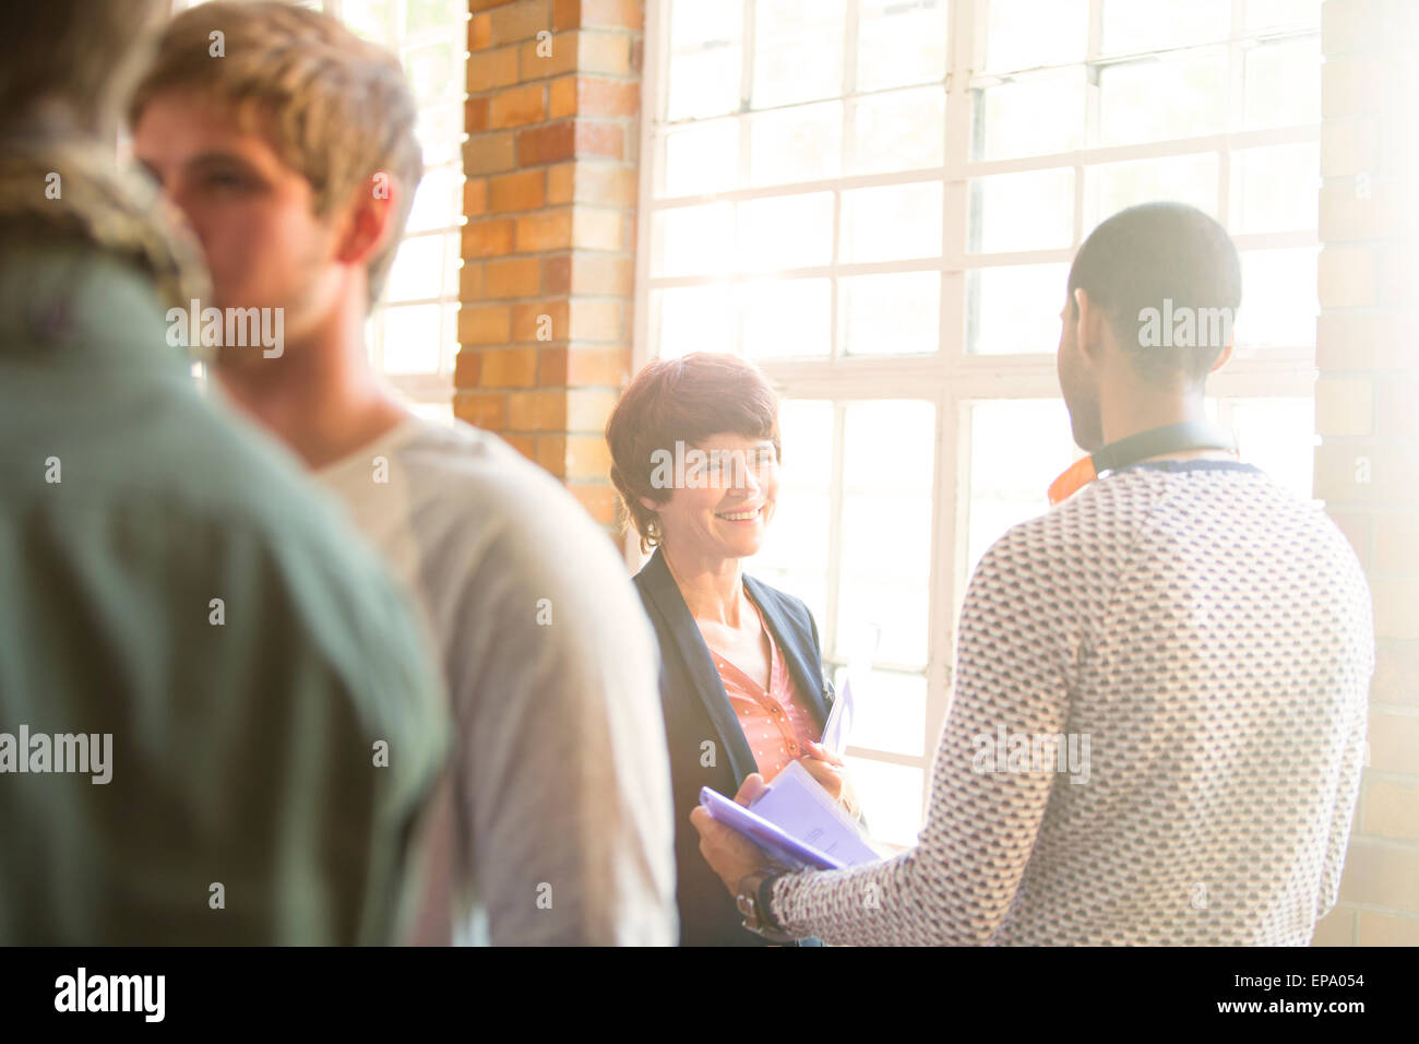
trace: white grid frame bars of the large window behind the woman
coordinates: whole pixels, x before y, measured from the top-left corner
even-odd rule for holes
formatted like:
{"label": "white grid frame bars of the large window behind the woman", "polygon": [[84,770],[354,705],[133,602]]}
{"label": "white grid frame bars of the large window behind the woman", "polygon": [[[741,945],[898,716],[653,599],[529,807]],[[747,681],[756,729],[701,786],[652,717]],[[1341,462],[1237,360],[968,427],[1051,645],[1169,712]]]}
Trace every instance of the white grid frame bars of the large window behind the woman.
{"label": "white grid frame bars of the large window behind the woman", "polygon": [[[844,94],[851,97],[856,74],[856,26],[857,0],[846,0],[846,33],[843,51]],[[650,266],[651,253],[651,219],[656,213],[680,206],[694,206],[710,200],[739,202],[751,199],[766,199],[773,196],[792,196],[809,190],[827,190],[834,195],[833,217],[834,239],[833,254],[829,264],[810,268],[793,268],[775,273],[775,277],[817,276],[830,277],[833,314],[829,324],[832,348],[823,359],[761,359],[758,365],[779,389],[786,399],[826,399],[834,403],[834,439],[833,439],[833,484],[830,486],[830,501],[833,516],[829,533],[829,562],[827,562],[827,615],[820,621],[819,632],[824,636],[824,660],[832,665],[841,665],[841,659],[827,656],[827,648],[836,635],[836,607],[837,595],[837,562],[840,561],[840,521],[839,507],[841,499],[841,413],[843,403],[851,401],[905,398],[929,401],[937,410],[937,443],[935,443],[935,482],[932,493],[932,547],[929,571],[929,632],[928,632],[928,662],[927,662],[927,720],[925,743],[920,756],[907,756],[885,750],[864,747],[850,747],[849,754],[871,761],[907,766],[922,771],[922,808],[931,787],[931,761],[935,756],[935,737],[939,734],[942,722],[951,699],[951,670],[955,656],[955,632],[959,607],[969,582],[968,562],[968,514],[971,504],[971,403],[993,399],[1059,399],[1059,379],[1056,374],[1056,358],[1053,354],[1036,355],[969,355],[964,344],[964,307],[966,300],[965,277],[975,268],[985,268],[998,264],[1017,264],[1022,261],[1047,263],[1073,259],[1074,251],[1084,236],[1086,220],[1086,166],[1095,163],[1156,159],[1179,155],[1198,155],[1213,152],[1219,156],[1218,176],[1218,216],[1223,224],[1229,223],[1232,189],[1230,156],[1243,148],[1264,145],[1291,145],[1320,141],[1320,124],[1301,128],[1276,128],[1260,131],[1235,131],[1215,134],[1200,138],[1185,138],[1161,142],[1147,142],[1125,146],[1083,148],[1064,153],[1026,156],[1019,159],[999,159],[975,162],[969,159],[971,146],[971,97],[976,87],[990,85],[995,77],[976,75],[973,70],[985,65],[985,26],[986,20],[978,17],[985,11],[986,0],[951,0],[948,7],[948,40],[951,43],[946,62],[946,108],[945,108],[945,165],[931,169],[914,169],[901,173],[874,173],[863,176],[844,176],[815,182],[795,182],[759,189],[736,189],[707,196],[688,196],[677,199],[656,199],[654,196],[654,165],[658,162],[658,142],[661,135],[677,126],[687,126],[697,119],[666,122],[663,119],[663,85],[667,78],[670,58],[670,18],[668,0],[647,0],[646,13],[646,68],[643,80],[641,112],[641,141],[640,155],[643,158],[640,170],[640,195],[637,213],[637,243],[641,249],[636,260],[636,308],[634,308],[634,342],[633,369],[639,371],[650,361],[650,293],[653,290],[673,287],[710,286],[719,280],[715,277],[653,277]],[[749,78],[753,68],[753,4],[755,0],[745,0],[744,6],[744,50],[741,57],[741,98],[749,97]],[[1230,82],[1227,88],[1229,119],[1239,111],[1242,99],[1242,62],[1239,61],[1243,43],[1243,0],[1232,0],[1232,31],[1227,41],[1216,41],[1216,45],[1229,48]],[[1103,26],[1103,0],[1090,0],[1090,26],[1086,64],[1100,61],[1100,37]],[[1317,30],[1318,31],[1318,30]],[[1279,33],[1276,36],[1290,36]],[[1254,38],[1254,37],[1253,37]],[[1264,38],[1264,37],[1263,37]],[[1189,44],[1191,50],[1196,44]],[[1156,54],[1152,51],[1149,54]],[[1118,60],[1110,55],[1108,61]],[[1069,62],[1059,68],[1074,68],[1078,62]],[[921,85],[918,85],[921,87]],[[908,88],[893,88],[908,89]],[[1094,125],[1098,119],[1098,85],[1091,78],[1087,88],[1086,142],[1093,141]],[[805,102],[815,104],[815,102]],[[746,109],[745,109],[746,111]],[[724,116],[714,116],[722,119]],[[844,105],[844,121],[851,121],[853,107]],[[741,121],[741,165],[748,162],[749,121]],[[846,126],[850,131],[850,124]],[[850,148],[851,135],[843,135],[844,152]],[[1022,170],[1060,169],[1071,166],[1074,170],[1074,246],[1061,250],[1033,250],[1023,253],[968,253],[966,251],[966,220],[969,203],[969,182],[973,178],[995,173],[1013,173]],[[846,163],[844,163],[846,169]],[[932,260],[888,261],[888,263],[858,263],[843,264],[837,259],[837,227],[841,209],[841,193],[846,189],[878,185],[905,183],[944,183],[942,209],[942,249],[941,256]],[[741,178],[741,185],[748,183],[748,178]],[[1317,179],[1318,193],[1318,179]],[[1264,234],[1233,234],[1233,241],[1240,251],[1267,247],[1320,247],[1317,230],[1264,233]],[[839,276],[878,274],[897,271],[935,270],[941,274],[941,330],[938,347],[934,355],[915,357],[846,357],[840,348],[840,330],[837,322],[837,281]],[[744,273],[736,278],[745,281],[762,278],[762,274]],[[1060,300],[1063,304],[1063,297]],[[742,332],[741,332],[742,338]],[[727,345],[725,351],[735,351],[736,345]],[[1230,422],[1230,402],[1239,398],[1314,398],[1315,382],[1314,342],[1305,347],[1266,348],[1252,352],[1242,352],[1220,372],[1209,379],[1209,398],[1218,401],[1218,419],[1222,423]],[[634,534],[630,534],[626,544],[627,560],[633,564],[640,561],[639,545]],[[893,665],[878,663],[880,668],[893,669]],[[917,668],[911,668],[912,672]]]}

